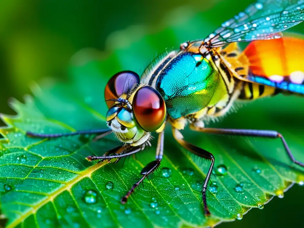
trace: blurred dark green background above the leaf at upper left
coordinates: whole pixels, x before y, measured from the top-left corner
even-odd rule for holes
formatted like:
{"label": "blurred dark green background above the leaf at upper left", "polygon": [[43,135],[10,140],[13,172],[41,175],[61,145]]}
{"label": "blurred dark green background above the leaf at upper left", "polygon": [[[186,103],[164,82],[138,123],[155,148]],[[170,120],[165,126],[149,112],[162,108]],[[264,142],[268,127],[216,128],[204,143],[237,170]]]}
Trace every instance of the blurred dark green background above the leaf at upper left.
{"label": "blurred dark green background above the leaf at upper left", "polygon": [[[0,1],[0,90],[2,112],[9,97],[29,93],[29,83],[64,78],[70,57],[86,47],[103,50],[106,37],[131,25],[157,25],[172,9],[210,9],[219,0],[177,1]],[[200,7],[194,7],[200,5]],[[172,18],[175,20],[176,18]],[[5,86],[4,86],[5,85]]]}

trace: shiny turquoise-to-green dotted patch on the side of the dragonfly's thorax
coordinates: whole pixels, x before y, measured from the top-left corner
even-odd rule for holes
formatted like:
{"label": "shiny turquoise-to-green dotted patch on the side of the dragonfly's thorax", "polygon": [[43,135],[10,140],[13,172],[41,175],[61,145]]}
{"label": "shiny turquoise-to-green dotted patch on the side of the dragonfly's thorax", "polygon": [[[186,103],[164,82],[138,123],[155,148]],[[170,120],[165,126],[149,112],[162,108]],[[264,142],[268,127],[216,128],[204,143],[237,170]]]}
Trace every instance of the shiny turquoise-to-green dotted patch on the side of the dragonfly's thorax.
{"label": "shiny turquoise-to-green dotted patch on the side of the dragonfly's thorax", "polygon": [[207,107],[216,91],[219,72],[202,55],[178,54],[159,74],[156,89],[173,119]]}

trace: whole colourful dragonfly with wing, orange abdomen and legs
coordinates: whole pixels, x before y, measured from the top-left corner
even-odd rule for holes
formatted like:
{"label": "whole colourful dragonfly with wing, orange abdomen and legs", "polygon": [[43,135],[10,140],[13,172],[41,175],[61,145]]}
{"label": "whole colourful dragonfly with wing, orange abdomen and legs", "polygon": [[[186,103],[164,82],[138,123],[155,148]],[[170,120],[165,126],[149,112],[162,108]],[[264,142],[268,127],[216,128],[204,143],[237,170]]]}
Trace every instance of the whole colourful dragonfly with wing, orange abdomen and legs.
{"label": "whole colourful dragonfly with wing, orange abdomen and legs", "polygon": [[[210,118],[224,116],[237,100],[254,100],[278,93],[304,95],[304,40],[285,37],[282,31],[304,19],[304,0],[258,0],[243,12],[223,22],[205,39],[181,43],[179,50],[164,52],[152,61],[141,77],[134,71],[113,75],[105,86],[107,129],[32,137],[95,134],[96,139],[113,133],[123,142],[103,156],[88,156],[98,162],[136,154],[151,146],[156,132],[155,160],[140,172],[121,203],[126,203],[142,181],[161,164],[164,127],[171,124],[175,140],[186,150],[211,162],[202,184],[205,216],[210,215],[206,189],[215,157],[184,140],[182,130],[211,134],[279,138],[290,160],[301,167],[282,134],[275,130],[208,128]],[[250,42],[242,51],[239,42]],[[296,56],[296,57],[295,57]],[[116,160],[115,160],[116,159]]]}

